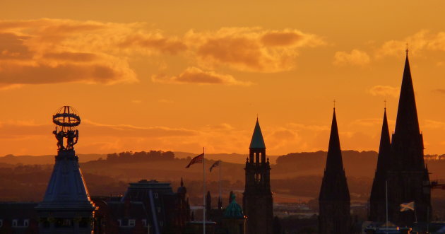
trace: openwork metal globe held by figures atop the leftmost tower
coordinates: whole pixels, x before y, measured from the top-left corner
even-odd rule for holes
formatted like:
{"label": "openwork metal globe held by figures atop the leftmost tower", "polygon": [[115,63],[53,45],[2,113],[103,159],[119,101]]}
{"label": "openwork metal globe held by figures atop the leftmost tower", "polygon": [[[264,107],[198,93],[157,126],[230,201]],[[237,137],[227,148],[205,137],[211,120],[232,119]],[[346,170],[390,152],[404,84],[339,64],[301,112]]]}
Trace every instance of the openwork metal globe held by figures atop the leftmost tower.
{"label": "openwork metal globe held by figures atop the leftmost tower", "polygon": [[[81,124],[78,112],[73,107],[64,105],[52,116],[52,122],[56,124],[56,129],[52,131],[52,134],[56,136],[59,151],[73,150],[79,139],[79,131],[76,127]],[[65,138],[66,144],[64,145]]]}

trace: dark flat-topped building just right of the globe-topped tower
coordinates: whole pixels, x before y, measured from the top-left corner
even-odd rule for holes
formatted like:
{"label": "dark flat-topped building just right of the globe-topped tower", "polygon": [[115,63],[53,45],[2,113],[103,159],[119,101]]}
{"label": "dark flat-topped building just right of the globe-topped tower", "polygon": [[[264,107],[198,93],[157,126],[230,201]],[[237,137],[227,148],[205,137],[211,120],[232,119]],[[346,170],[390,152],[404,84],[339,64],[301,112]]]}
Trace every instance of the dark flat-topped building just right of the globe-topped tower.
{"label": "dark flat-topped building just right of the globe-topped tower", "polygon": [[182,180],[177,193],[170,183],[141,180],[124,197],[95,197],[95,233],[182,233],[190,221],[186,191]]}

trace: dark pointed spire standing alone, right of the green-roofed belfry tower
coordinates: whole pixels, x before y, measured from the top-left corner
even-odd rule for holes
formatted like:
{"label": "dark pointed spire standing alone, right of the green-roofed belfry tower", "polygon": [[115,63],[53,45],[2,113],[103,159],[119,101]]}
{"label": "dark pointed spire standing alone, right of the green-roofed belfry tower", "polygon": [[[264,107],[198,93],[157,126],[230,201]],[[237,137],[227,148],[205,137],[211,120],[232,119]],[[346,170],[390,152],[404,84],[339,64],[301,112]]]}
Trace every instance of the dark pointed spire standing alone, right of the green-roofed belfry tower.
{"label": "dark pointed spire standing alone, right of the green-roofed belfry tower", "polygon": [[349,234],[351,230],[350,195],[340,149],[334,108],[328,156],[319,196],[319,233]]}

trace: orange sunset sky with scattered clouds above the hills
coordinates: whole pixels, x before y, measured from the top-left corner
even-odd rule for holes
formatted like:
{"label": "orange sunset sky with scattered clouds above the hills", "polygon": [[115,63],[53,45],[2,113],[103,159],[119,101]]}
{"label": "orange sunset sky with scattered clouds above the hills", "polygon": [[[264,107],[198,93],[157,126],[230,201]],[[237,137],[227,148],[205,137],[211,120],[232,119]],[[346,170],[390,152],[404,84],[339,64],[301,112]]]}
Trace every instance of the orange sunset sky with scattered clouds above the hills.
{"label": "orange sunset sky with scattered clouds above the hills", "polygon": [[445,153],[445,1],[1,1],[0,156],[247,153],[256,115],[278,155],[377,150],[409,43],[425,153]]}

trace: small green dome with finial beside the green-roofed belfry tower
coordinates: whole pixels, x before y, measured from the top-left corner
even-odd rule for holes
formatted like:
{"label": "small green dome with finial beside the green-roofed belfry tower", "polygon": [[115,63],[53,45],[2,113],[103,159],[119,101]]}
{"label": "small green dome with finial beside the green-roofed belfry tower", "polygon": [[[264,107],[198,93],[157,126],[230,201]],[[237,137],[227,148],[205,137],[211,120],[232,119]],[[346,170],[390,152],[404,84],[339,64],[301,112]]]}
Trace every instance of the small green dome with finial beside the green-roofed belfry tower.
{"label": "small green dome with finial beside the green-roofed belfry tower", "polygon": [[231,202],[227,206],[223,215],[223,226],[227,233],[244,234],[244,223],[246,216],[242,212],[241,206],[235,200],[235,194],[231,195]]}

